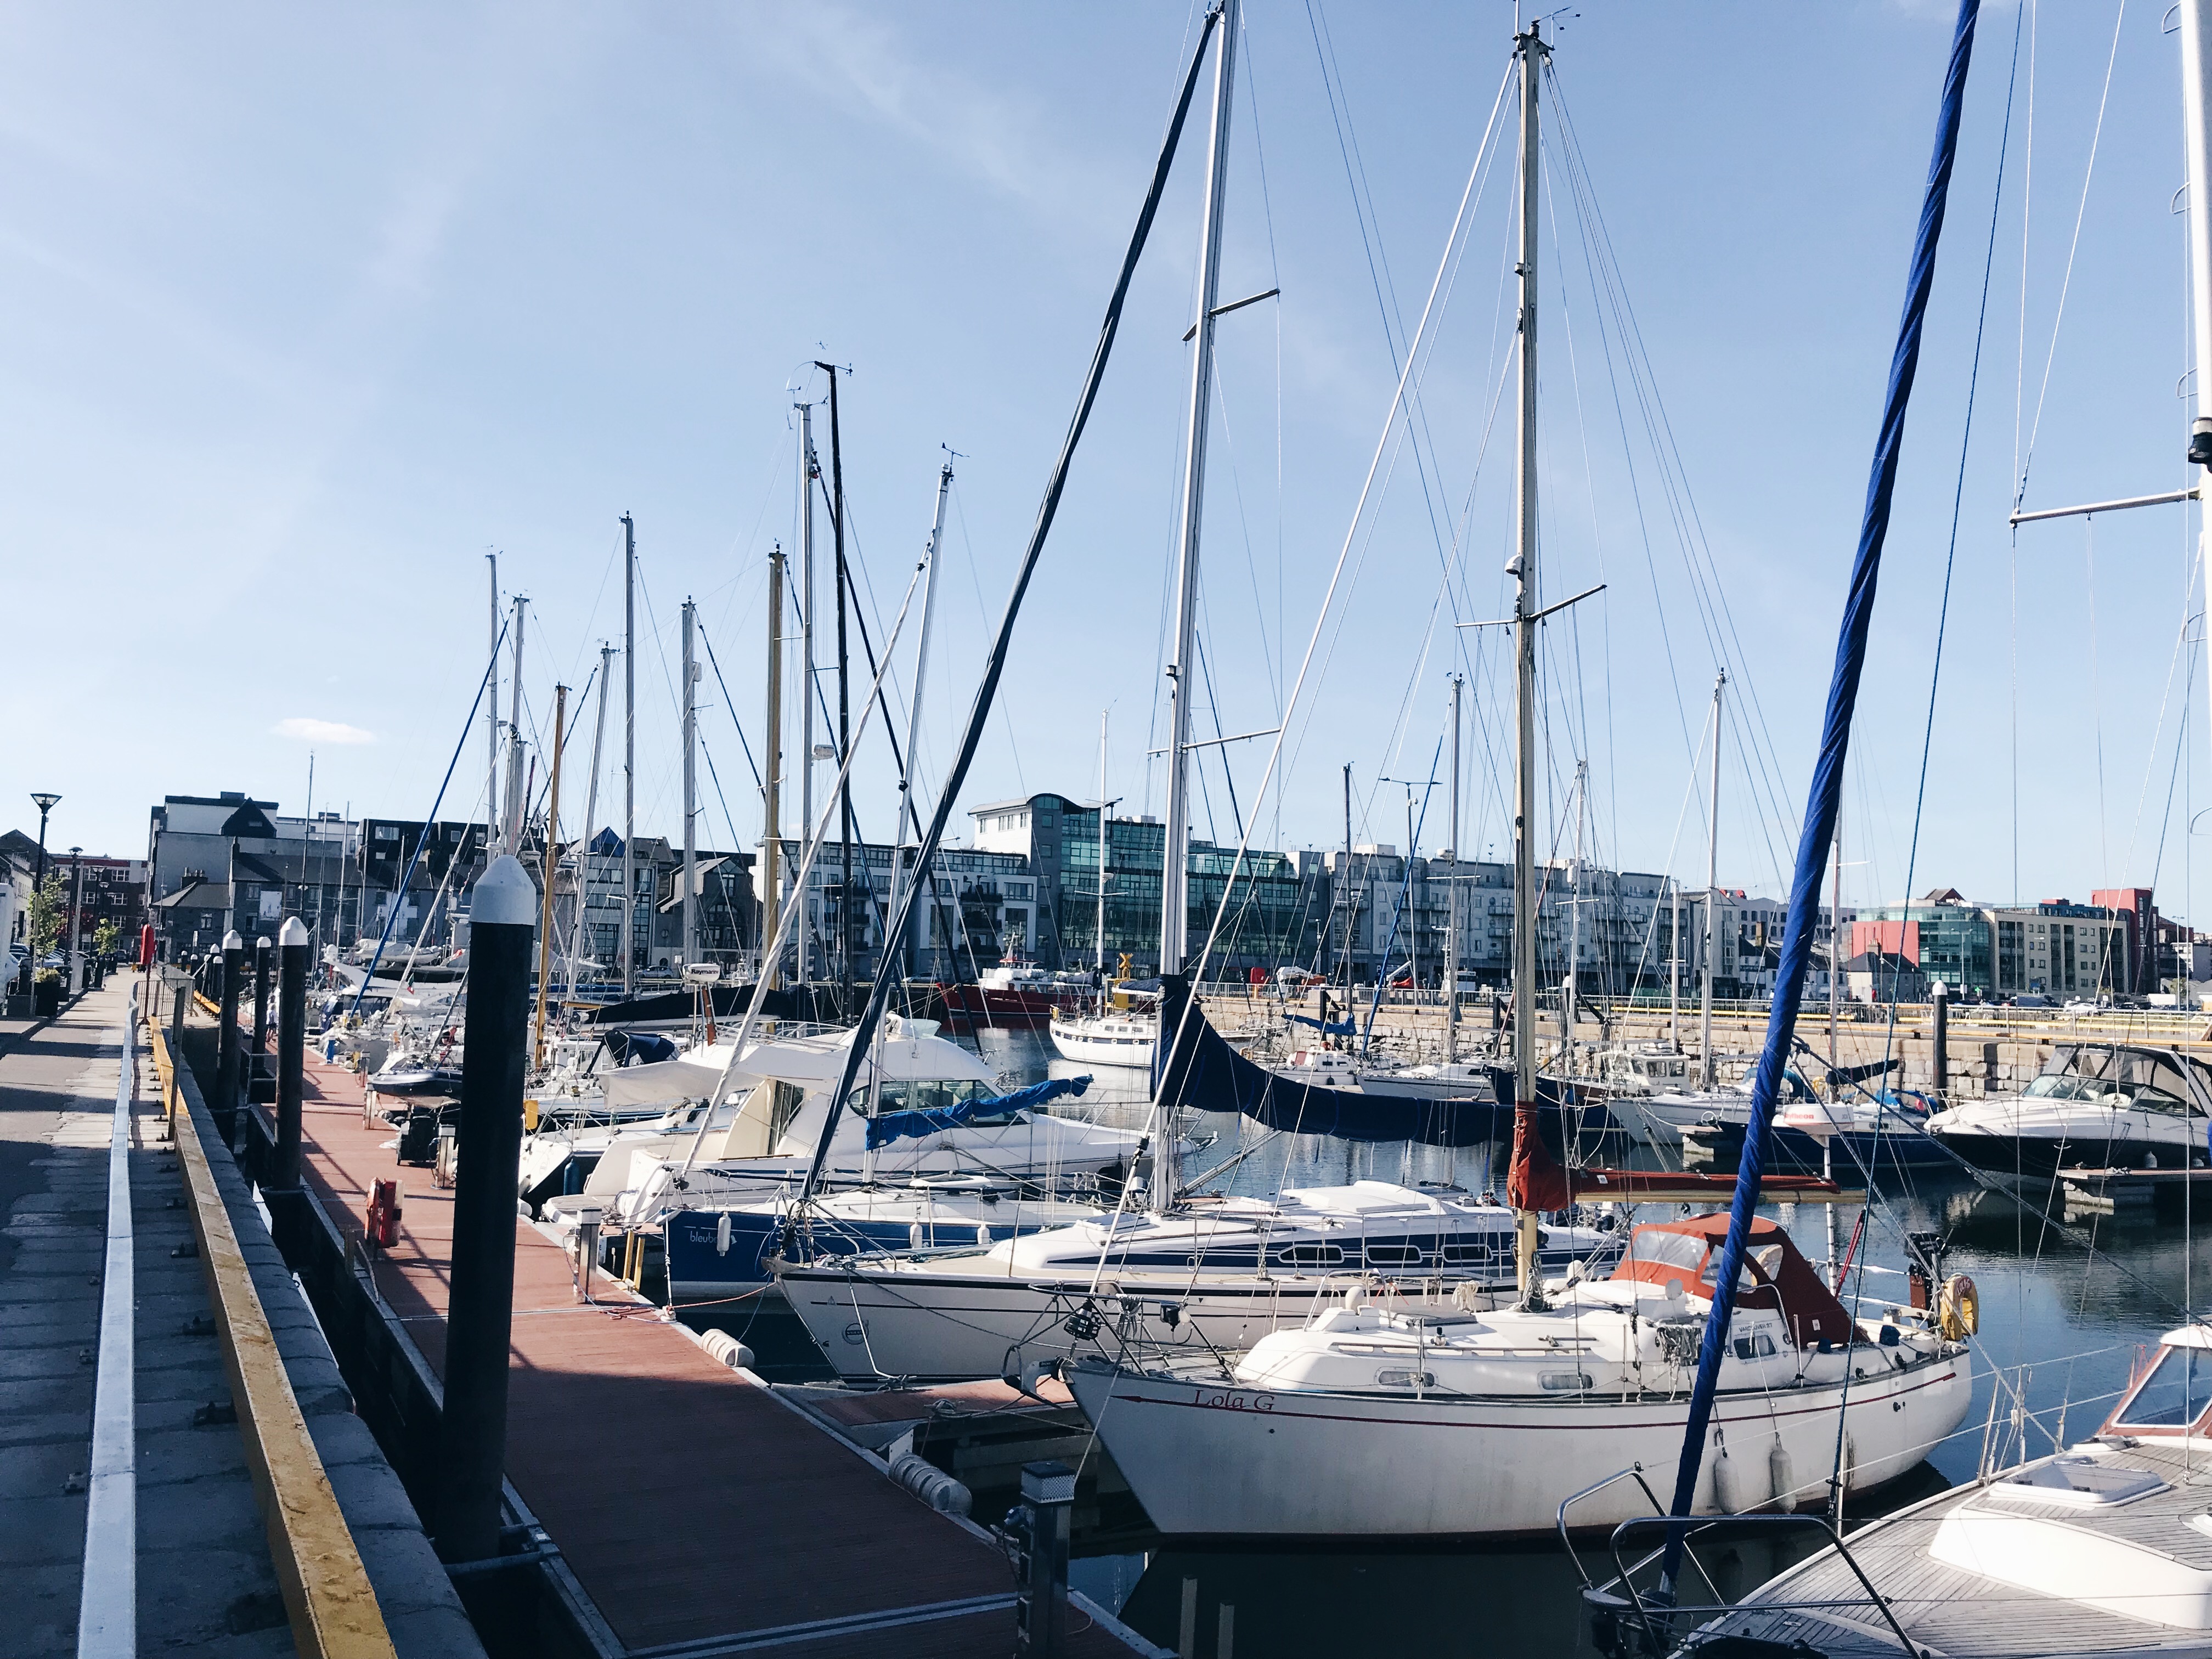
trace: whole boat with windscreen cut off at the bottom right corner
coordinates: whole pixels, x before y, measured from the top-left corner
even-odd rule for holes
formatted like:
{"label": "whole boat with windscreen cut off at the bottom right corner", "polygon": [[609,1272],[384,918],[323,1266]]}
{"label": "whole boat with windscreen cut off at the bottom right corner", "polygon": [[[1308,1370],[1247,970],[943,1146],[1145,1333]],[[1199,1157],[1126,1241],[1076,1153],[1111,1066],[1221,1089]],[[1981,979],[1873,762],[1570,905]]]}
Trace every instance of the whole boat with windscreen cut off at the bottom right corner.
{"label": "whole boat with windscreen cut off at the bottom right corner", "polygon": [[[1809,1555],[1721,1617],[1699,1608],[1697,1644],[1683,1652],[1728,1641],[1734,1652],[1783,1652],[1790,1641],[1896,1652],[1893,1619],[1913,1650],[1958,1659],[2208,1659],[2208,1402],[2212,1332],[2183,1325],[2161,1338],[2095,1438],[2011,1469],[1984,1462],[1978,1480],[1858,1526],[1845,1548]],[[1586,1599],[1604,1601],[1610,1628],[1635,1641],[1648,1590],[1630,1597],[1615,1582]]]}

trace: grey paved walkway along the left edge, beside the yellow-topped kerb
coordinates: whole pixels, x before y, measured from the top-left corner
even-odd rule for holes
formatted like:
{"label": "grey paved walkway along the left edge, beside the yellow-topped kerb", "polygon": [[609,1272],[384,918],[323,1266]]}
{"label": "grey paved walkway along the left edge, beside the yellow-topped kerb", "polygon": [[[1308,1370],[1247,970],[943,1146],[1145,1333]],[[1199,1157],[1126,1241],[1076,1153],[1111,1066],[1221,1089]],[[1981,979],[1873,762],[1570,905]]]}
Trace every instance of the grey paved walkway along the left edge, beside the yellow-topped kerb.
{"label": "grey paved walkway along the left edge, beside the yellow-topped kerb", "polygon": [[[0,1582],[9,1655],[75,1652],[128,984],[0,1053]],[[131,1135],[139,1652],[292,1652],[153,1068]],[[186,1254],[179,1254],[184,1250]]]}

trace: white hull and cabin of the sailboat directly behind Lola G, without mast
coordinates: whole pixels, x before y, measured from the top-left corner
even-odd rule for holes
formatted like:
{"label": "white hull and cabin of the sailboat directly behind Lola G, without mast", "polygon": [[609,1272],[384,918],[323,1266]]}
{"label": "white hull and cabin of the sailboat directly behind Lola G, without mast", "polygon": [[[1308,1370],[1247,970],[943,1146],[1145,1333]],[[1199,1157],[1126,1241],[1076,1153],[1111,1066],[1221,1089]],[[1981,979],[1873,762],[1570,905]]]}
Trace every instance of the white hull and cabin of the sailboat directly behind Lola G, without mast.
{"label": "white hull and cabin of the sailboat directly behind Lola G, without mast", "polygon": [[[1619,1234],[1544,1228],[1542,1261],[1608,1261]],[[1265,1199],[1186,1199],[989,1250],[776,1263],[849,1383],[1006,1376],[1130,1343],[1237,1354],[1352,1283],[1513,1283],[1513,1212],[1455,1188],[1354,1181]]]}

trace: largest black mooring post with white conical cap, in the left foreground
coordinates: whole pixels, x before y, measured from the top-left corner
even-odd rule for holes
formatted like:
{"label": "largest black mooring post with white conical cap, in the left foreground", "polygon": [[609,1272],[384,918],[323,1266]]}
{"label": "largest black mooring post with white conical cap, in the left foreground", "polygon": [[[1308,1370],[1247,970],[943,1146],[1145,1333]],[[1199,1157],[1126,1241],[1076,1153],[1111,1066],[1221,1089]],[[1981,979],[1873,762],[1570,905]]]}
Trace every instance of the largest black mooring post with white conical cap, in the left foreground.
{"label": "largest black mooring post with white conical cap, in the left foreground", "polygon": [[535,911],[538,887],[513,854],[491,863],[469,902],[469,1013],[436,1506],[438,1555],[447,1562],[484,1562],[500,1553]]}

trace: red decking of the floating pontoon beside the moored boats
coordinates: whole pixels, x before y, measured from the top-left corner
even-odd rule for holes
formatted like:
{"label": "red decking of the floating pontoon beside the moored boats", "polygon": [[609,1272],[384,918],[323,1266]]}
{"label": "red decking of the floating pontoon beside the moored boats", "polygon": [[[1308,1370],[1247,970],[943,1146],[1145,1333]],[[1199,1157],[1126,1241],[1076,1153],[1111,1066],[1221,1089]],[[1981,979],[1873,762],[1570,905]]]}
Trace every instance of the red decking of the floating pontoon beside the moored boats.
{"label": "red decking of the floating pontoon beside the moored boats", "polygon": [[[400,1177],[400,1241],[376,1256],[376,1285],[442,1371],[453,1197],[429,1170],[398,1168],[392,1128],[363,1128],[356,1073],[310,1057],[305,1082],[307,1181],[345,1234],[361,1234],[369,1181]],[[748,1652],[807,1659],[1013,1650],[1009,1606],[929,1617],[1013,1590],[991,1542],[712,1360],[619,1283],[593,1283],[613,1307],[580,1305],[568,1256],[515,1223],[507,1475],[628,1648],[752,1635]],[[922,1617],[876,1621],[909,1608]],[[872,1626],[792,1630],[838,1619]],[[1086,1624],[1077,1608],[1068,1619]],[[1073,1652],[1130,1648],[1091,1626]]]}

